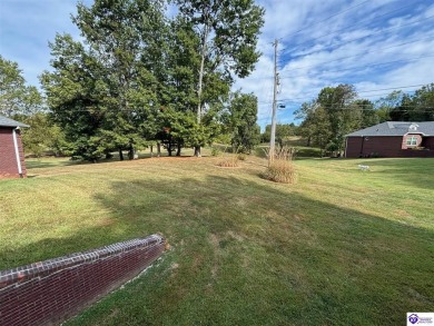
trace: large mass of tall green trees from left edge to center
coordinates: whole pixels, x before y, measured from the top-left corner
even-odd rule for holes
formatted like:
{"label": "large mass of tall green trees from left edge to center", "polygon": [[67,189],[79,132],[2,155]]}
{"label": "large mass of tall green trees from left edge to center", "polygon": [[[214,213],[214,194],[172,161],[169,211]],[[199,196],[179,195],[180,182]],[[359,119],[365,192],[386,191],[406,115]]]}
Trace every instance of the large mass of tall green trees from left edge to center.
{"label": "large mass of tall green trees from left edge to center", "polygon": [[40,76],[45,98],[24,86],[16,62],[0,57],[7,81],[0,112],[33,127],[23,135],[31,151],[42,140],[90,161],[114,151],[131,159],[150,145],[169,155],[194,147],[200,156],[200,147],[216,139],[251,149],[257,98],[230,89],[260,56],[264,9],[254,0],[174,0],[177,14],[168,18],[167,4],[78,3],[72,22],[81,38],[58,33],[49,43],[52,70]]}

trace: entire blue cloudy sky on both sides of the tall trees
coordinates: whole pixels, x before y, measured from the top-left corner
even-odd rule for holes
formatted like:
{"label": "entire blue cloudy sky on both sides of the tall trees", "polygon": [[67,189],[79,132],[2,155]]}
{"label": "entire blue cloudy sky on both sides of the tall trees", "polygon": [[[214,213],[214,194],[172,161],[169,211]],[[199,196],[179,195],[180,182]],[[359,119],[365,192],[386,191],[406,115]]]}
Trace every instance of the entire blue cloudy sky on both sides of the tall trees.
{"label": "entire blue cloudy sky on both sides of the tall trees", "polygon": [[[258,97],[263,128],[272,117],[275,40],[282,124],[293,121],[294,110],[327,86],[352,83],[359,97],[375,100],[434,82],[433,0],[257,1],[266,9],[263,56],[236,88]],[[56,32],[78,38],[70,19],[76,2],[0,0],[0,53],[18,62],[28,83],[38,86],[38,76],[50,69],[48,42]]]}

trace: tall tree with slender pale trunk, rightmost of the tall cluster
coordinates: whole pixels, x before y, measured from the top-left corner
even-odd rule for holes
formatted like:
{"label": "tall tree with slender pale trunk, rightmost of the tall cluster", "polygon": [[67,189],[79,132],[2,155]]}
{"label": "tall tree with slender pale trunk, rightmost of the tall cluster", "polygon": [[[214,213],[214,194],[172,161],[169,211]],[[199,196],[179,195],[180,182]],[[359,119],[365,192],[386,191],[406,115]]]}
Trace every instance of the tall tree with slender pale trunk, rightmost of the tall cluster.
{"label": "tall tree with slender pale trunk, rightmost of the tall cluster", "polygon": [[[213,87],[215,72],[225,83],[231,83],[231,75],[246,77],[259,58],[256,51],[259,29],[264,24],[264,9],[253,0],[174,0],[181,17],[191,23],[198,36],[197,53],[200,57],[196,80],[197,122],[201,118]],[[213,77],[213,76],[209,76]],[[208,93],[206,92],[208,89]],[[200,156],[200,147],[195,147]]]}

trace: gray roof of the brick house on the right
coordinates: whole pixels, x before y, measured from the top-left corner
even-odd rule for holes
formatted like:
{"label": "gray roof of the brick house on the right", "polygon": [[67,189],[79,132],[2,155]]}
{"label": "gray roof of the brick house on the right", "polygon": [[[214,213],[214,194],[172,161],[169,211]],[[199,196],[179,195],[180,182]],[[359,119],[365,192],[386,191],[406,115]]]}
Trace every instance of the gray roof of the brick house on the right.
{"label": "gray roof of the brick house on the right", "polygon": [[387,121],[358,131],[354,131],[346,136],[347,137],[404,136],[406,134],[422,134],[423,136],[434,136],[434,121],[426,121],[426,122]]}

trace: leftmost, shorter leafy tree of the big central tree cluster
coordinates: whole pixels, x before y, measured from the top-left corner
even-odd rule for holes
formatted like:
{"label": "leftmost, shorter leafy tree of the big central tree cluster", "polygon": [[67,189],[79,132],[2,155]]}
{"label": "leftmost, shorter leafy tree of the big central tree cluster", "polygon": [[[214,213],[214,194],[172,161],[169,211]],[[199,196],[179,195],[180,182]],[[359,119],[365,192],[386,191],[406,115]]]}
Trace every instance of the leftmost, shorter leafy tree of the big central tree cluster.
{"label": "leftmost, shorter leafy tree of the big central tree cluster", "polygon": [[98,139],[108,110],[103,67],[68,34],[58,34],[50,48],[55,71],[41,76],[48,106],[72,144],[73,157],[95,161],[103,156]]}

